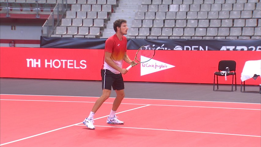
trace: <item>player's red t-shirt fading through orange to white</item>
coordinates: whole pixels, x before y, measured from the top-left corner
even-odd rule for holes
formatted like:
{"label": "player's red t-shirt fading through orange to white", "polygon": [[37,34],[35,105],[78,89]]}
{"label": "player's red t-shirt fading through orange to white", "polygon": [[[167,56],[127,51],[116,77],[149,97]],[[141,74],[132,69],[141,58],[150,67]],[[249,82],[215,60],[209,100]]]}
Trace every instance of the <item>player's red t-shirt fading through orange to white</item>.
{"label": "player's red t-shirt fading through orange to white", "polygon": [[[110,36],[105,42],[104,51],[111,53],[111,59],[113,62],[117,66],[122,67],[123,58],[125,52],[127,52],[127,38],[122,36],[122,40],[119,40],[116,34]],[[103,55],[102,69],[110,70],[114,74],[120,74],[118,70],[115,70],[105,62],[105,55]]]}

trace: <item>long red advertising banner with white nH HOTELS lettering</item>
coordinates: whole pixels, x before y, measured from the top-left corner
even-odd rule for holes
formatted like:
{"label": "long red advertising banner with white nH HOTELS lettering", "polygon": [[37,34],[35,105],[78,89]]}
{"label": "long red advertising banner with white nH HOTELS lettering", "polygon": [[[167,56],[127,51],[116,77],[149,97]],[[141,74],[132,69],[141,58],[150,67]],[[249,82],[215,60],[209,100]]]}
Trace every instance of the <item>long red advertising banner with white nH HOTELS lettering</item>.
{"label": "long red advertising banner with white nH HOTELS lettering", "polygon": [[[102,49],[1,47],[0,77],[101,80],[103,54]],[[134,58],[136,50],[128,50],[127,54]],[[260,59],[260,51],[157,50],[152,60],[132,67],[123,78],[125,81],[212,84],[218,62],[235,60],[237,84],[240,84],[245,62]],[[220,84],[230,84],[231,78],[218,80]],[[259,85],[260,82],[258,77],[247,80],[246,84]]]}

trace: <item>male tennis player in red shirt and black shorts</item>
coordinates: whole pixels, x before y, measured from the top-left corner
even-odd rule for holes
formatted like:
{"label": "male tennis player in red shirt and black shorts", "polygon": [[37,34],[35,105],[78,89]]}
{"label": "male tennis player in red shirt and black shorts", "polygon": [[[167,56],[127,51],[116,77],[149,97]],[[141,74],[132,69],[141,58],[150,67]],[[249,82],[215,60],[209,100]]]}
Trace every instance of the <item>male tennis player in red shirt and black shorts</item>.
{"label": "male tennis player in red shirt and black shorts", "polygon": [[123,19],[116,20],[113,23],[113,28],[116,33],[113,36],[110,36],[105,42],[103,65],[101,69],[103,94],[96,100],[88,118],[83,121],[84,125],[90,129],[95,129],[95,126],[93,125],[94,115],[103,102],[110,97],[111,87],[115,90],[117,96],[113,102],[107,123],[124,124],[124,122],[118,120],[115,115],[125,96],[122,74],[126,74],[128,70],[122,68],[122,63],[125,61],[131,64],[133,61],[129,59],[126,53],[127,39],[124,35],[126,35],[128,31],[127,21]]}

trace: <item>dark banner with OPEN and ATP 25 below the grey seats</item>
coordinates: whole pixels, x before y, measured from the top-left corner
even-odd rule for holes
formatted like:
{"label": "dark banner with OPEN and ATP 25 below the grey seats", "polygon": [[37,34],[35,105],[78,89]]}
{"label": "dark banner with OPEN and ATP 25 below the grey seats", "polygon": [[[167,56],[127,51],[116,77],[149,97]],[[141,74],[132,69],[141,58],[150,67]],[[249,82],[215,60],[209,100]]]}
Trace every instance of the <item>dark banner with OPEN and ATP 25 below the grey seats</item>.
{"label": "dark banner with OPEN and ATP 25 below the grey seats", "polygon": [[[41,36],[43,48],[104,49],[106,39],[58,38]],[[261,40],[186,40],[186,39],[128,39],[127,49],[137,50],[151,44],[156,50],[183,51],[261,51]]]}

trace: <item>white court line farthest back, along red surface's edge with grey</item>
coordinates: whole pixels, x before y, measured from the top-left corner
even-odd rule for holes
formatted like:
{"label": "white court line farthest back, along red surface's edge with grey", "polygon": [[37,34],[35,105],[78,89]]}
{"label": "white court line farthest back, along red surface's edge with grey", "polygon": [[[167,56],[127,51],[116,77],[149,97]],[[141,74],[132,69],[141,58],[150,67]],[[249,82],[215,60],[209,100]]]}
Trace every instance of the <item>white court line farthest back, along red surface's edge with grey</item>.
{"label": "white court line farthest back, along red surface's edge with grey", "polygon": [[[53,95],[26,95],[26,94],[0,94],[7,95],[7,96],[53,96]],[[98,98],[98,96],[57,96],[57,97],[83,97],[83,98]],[[109,97],[115,98],[115,97]],[[125,97],[124,99],[138,99],[138,100],[170,100],[170,99],[149,99],[149,98],[128,98]],[[258,104],[259,103],[241,103],[241,102],[219,102],[219,101],[202,101],[202,100],[170,100],[170,101],[188,101],[188,102],[214,102],[214,103],[235,103],[235,104]]]}

